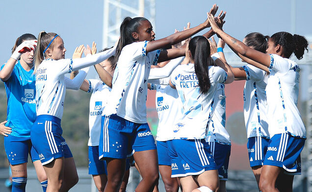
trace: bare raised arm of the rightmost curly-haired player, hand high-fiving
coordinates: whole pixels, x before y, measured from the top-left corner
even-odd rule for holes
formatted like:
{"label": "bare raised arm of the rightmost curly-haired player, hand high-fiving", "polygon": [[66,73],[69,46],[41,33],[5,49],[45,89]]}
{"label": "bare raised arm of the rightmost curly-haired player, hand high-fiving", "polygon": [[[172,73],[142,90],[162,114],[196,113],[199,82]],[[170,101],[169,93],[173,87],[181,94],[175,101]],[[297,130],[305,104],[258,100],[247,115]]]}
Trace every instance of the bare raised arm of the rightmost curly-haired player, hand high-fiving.
{"label": "bare raised arm of the rightmost curly-haired player, hand high-fiving", "polygon": [[237,39],[225,33],[222,29],[218,27],[218,25],[214,21],[213,15],[208,14],[208,20],[209,20],[209,23],[211,24],[211,28],[213,29],[213,31],[216,34],[218,34],[226,44],[232,47],[234,51],[241,54],[242,56],[245,56],[253,61],[260,63],[261,65],[264,65],[266,67],[270,66],[270,62],[271,62],[270,55],[262,53],[255,49],[249,48],[244,43],[238,41]]}

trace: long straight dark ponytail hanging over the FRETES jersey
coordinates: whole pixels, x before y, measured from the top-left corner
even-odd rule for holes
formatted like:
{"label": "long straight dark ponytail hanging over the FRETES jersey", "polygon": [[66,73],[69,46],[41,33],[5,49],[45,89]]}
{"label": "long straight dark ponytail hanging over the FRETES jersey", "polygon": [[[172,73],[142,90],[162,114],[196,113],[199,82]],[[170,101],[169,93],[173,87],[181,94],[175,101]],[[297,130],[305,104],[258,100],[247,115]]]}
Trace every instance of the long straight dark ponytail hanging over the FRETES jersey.
{"label": "long straight dark ponytail hanging over the FRETES jersey", "polygon": [[194,69],[199,81],[201,93],[206,94],[211,86],[208,67],[213,64],[209,59],[209,42],[206,37],[196,36],[189,42],[189,50],[191,52],[191,57],[194,60]]}

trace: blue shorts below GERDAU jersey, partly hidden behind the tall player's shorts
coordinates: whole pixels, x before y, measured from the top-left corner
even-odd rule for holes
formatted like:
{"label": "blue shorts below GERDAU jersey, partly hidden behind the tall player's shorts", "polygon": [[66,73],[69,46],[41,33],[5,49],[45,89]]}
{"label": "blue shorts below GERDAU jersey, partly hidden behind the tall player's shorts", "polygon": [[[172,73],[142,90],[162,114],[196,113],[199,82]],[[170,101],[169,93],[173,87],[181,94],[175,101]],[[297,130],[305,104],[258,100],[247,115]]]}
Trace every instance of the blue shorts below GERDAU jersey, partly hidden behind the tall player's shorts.
{"label": "blue shorts below GERDAU jersey, partly hidden behind the tall player's shorts", "polygon": [[89,175],[107,175],[106,162],[99,160],[99,146],[89,146]]}

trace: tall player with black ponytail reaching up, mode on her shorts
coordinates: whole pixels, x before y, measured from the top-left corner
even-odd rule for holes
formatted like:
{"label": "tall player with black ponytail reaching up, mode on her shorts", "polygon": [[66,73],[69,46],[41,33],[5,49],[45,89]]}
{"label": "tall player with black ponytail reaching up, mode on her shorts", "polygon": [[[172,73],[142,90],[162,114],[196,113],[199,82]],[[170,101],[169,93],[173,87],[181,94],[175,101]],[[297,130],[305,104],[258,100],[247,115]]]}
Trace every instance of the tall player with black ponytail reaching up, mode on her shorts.
{"label": "tall player with black ponytail reaching up, mode on her shorts", "polygon": [[111,100],[103,111],[104,128],[99,146],[100,158],[105,158],[107,163],[105,192],[117,191],[124,175],[125,159],[133,152],[143,178],[135,191],[153,190],[159,176],[156,145],[146,121],[150,66],[185,54],[183,48],[161,52],[158,48],[181,42],[208,26],[204,22],[154,41],[155,33],[147,19],[127,17],[121,24],[115,57],[118,63],[112,82]]}

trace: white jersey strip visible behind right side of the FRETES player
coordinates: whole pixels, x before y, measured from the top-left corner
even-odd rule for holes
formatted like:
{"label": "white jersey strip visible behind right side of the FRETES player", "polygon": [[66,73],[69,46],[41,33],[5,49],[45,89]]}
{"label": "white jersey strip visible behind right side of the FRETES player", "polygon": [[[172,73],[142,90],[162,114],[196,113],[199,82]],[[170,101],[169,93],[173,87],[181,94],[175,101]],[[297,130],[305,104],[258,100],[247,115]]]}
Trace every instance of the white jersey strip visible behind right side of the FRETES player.
{"label": "white jersey strip visible behind right side of the FRETES player", "polygon": [[206,142],[231,145],[230,135],[225,129],[225,98],[224,84],[219,83],[214,96],[214,110],[209,122]]}

